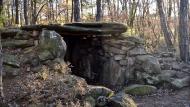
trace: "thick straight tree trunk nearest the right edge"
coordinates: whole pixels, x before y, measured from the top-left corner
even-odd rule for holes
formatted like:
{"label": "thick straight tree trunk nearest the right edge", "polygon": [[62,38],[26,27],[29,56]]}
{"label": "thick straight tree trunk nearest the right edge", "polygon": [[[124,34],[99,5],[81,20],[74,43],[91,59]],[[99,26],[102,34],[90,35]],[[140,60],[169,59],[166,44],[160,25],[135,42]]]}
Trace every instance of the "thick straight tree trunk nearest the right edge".
{"label": "thick straight tree trunk nearest the right edge", "polygon": [[180,0],[179,10],[179,49],[180,57],[184,62],[189,58],[189,0]]}

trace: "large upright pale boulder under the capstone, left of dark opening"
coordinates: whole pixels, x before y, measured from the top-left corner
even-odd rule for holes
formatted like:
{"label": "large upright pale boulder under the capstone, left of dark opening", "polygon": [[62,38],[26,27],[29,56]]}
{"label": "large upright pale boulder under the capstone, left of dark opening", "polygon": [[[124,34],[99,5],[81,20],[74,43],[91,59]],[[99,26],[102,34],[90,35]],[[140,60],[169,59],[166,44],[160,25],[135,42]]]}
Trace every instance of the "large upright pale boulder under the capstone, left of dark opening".
{"label": "large upright pale boulder under the capstone, left of dark opening", "polygon": [[62,58],[66,54],[67,45],[61,35],[55,31],[43,30],[39,37],[39,57],[41,60]]}

